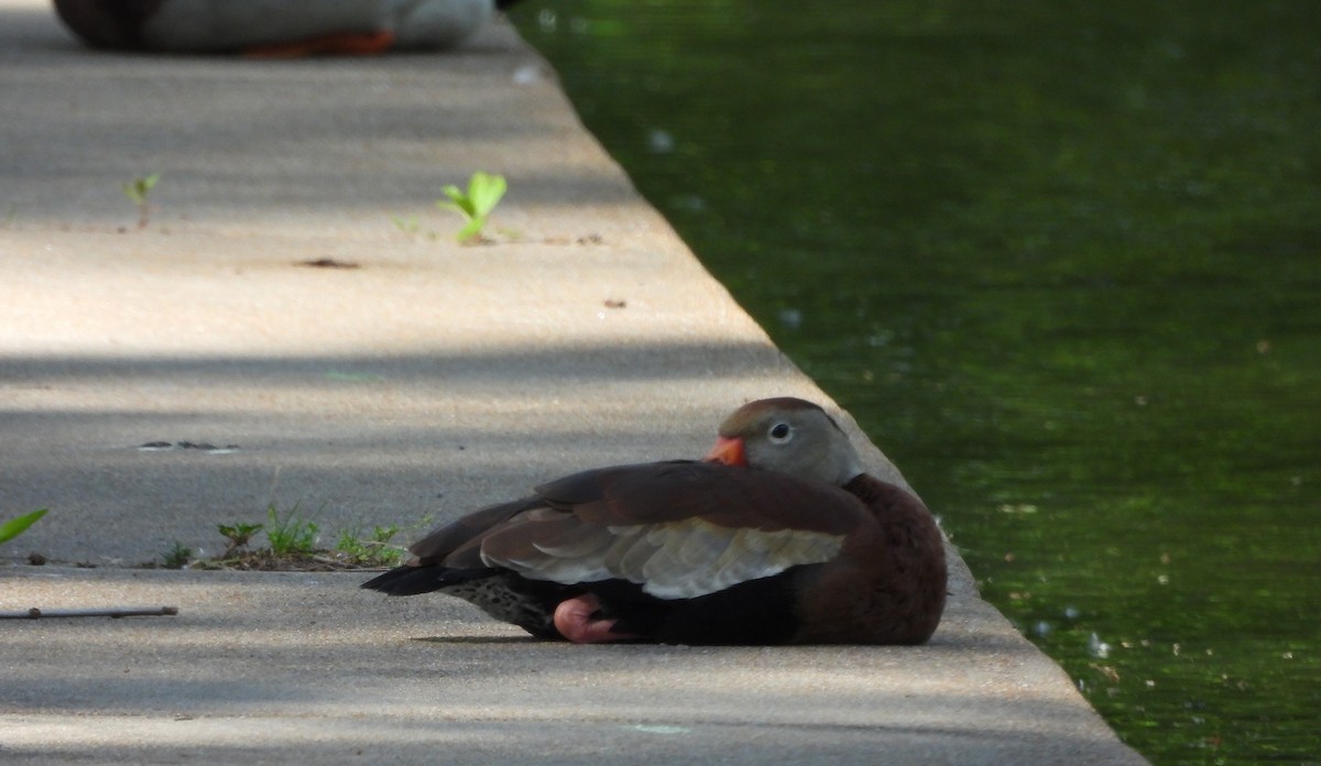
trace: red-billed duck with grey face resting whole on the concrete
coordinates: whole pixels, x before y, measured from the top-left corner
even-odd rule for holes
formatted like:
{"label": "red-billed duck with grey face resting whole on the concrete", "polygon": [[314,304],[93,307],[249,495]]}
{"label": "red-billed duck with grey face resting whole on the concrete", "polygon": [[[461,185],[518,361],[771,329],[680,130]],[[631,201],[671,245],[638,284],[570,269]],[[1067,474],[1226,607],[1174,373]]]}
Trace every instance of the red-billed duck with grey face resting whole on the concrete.
{"label": "red-billed duck with grey face resting whole on the concrete", "polygon": [[363,584],[439,590],[532,635],[688,644],[922,643],[945,608],[941,531],[863,471],[820,407],[738,408],[703,462],[542,485],[413,544]]}

